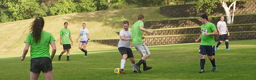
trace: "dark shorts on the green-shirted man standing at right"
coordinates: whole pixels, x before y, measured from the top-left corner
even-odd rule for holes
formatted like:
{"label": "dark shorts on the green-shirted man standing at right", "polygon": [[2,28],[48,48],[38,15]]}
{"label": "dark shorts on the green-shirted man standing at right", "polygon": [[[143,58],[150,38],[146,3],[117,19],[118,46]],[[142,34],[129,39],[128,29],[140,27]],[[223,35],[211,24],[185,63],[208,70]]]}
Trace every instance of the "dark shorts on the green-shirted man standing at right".
{"label": "dark shorts on the green-shirted man standing at right", "polygon": [[207,56],[214,56],[215,55],[215,46],[205,46],[200,45],[199,47],[199,53]]}

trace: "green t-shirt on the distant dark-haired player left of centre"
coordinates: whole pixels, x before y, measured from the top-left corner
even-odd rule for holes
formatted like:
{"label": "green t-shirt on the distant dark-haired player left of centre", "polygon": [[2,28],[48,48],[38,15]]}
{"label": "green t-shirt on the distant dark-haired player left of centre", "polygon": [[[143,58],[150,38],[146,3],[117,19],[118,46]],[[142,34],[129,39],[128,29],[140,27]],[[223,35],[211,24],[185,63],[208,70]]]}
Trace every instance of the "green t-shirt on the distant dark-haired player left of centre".
{"label": "green t-shirt on the distant dark-haired player left of centre", "polygon": [[71,35],[71,32],[69,29],[65,29],[65,28],[61,29],[60,35],[62,35],[61,37],[62,44],[70,44],[69,36]]}

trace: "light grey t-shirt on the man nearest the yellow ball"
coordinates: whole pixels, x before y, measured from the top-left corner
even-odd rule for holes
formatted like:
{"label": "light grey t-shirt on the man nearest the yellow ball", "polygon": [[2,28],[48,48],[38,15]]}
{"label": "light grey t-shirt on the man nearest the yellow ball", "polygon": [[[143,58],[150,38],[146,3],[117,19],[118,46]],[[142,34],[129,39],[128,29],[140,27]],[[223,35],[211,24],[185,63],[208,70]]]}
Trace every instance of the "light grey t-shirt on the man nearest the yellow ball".
{"label": "light grey t-shirt on the man nearest the yellow ball", "polygon": [[[122,29],[122,30],[119,32],[119,37],[120,37],[120,36],[124,36],[125,38],[131,38],[130,29],[129,29],[128,31],[125,31],[124,29]],[[118,48],[119,48],[119,47],[131,48],[131,47],[130,47],[130,43],[131,43],[131,40],[123,41],[123,40],[121,40],[121,38],[120,38],[120,39],[119,39],[119,42],[118,42]]]}

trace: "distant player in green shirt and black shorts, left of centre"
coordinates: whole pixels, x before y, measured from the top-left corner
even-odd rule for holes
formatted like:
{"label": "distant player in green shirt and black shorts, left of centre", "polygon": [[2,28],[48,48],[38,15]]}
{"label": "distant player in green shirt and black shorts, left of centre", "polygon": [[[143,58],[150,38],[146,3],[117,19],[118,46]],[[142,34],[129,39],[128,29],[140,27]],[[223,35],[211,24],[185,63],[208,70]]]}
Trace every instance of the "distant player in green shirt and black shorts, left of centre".
{"label": "distant player in green shirt and black shorts, left of centre", "polygon": [[[71,46],[73,46],[73,41],[71,38],[71,32],[69,29],[67,29],[68,23],[64,23],[64,28],[60,30],[60,44],[63,45],[63,51],[60,53],[58,60],[60,61],[60,58],[62,54],[64,54],[67,51],[67,61],[69,60],[69,49],[71,49]],[[70,45],[71,41],[71,45]]]}

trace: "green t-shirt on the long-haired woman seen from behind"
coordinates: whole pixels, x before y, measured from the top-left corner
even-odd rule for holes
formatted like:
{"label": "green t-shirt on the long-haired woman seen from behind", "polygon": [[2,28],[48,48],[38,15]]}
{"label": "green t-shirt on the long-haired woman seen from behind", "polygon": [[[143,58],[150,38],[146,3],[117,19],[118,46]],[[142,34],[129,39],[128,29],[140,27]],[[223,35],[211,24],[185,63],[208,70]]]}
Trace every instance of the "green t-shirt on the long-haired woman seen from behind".
{"label": "green t-shirt on the long-haired woman seen from behind", "polygon": [[27,39],[25,43],[30,44],[30,57],[32,58],[41,58],[41,57],[50,57],[49,44],[51,41],[55,41],[52,34],[46,31],[41,32],[41,40],[39,43],[33,41],[31,33],[27,34]]}

